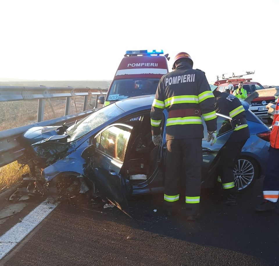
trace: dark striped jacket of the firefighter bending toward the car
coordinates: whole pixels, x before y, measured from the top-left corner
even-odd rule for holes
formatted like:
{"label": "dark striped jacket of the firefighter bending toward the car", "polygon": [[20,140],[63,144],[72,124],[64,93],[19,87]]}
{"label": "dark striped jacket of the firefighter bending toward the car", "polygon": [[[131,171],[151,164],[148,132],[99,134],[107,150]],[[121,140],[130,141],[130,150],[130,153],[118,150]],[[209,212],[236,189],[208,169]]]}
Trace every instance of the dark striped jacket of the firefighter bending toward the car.
{"label": "dark striped jacket of the firefighter bending toward the car", "polygon": [[244,141],[250,137],[245,109],[238,98],[229,93],[222,92],[216,98],[215,109],[217,113],[230,116],[233,120],[235,129],[230,136],[230,142]]}

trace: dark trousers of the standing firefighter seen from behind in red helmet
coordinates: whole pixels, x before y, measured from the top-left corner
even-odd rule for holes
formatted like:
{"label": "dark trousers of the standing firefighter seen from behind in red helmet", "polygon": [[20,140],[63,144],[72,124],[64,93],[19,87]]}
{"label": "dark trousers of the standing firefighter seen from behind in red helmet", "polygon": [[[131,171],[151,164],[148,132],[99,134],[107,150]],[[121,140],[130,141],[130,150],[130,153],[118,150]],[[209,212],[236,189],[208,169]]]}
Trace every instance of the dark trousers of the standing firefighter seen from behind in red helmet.
{"label": "dark trousers of the standing firefighter seen from behind in red helmet", "polygon": [[199,212],[203,161],[201,141],[202,139],[167,141],[164,200],[168,207],[173,208],[180,197],[180,181],[184,181],[187,215]]}

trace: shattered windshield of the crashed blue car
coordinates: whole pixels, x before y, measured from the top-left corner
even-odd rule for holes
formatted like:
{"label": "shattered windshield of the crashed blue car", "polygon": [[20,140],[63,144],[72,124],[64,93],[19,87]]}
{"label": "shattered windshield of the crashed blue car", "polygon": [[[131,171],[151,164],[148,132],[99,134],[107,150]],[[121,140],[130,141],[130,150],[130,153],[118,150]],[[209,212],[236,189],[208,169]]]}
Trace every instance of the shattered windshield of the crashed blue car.
{"label": "shattered windshield of the crashed blue car", "polygon": [[106,121],[123,113],[124,111],[115,104],[103,107],[90,116],[85,117],[84,119],[76,123],[76,125],[74,124],[70,126],[66,131],[66,134],[70,135],[68,142],[79,139],[80,137],[84,136],[91,130],[94,130],[96,127],[99,127]]}

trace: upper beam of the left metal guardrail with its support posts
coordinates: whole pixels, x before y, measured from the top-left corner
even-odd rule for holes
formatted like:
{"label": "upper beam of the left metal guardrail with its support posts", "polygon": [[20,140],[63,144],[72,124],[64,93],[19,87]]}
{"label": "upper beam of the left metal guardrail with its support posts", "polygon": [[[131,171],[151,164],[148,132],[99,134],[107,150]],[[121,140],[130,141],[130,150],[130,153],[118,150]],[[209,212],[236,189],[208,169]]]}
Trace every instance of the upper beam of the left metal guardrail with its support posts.
{"label": "upper beam of the left metal guardrail with its support posts", "polygon": [[38,99],[37,122],[44,120],[45,101],[51,98],[65,97],[65,113],[69,114],[71,97],[84,96],[83,111],[86,110],[88,97],[96,95],[94,108],[98,105],[98,96],[105,95],[107,89],[101,88],[73,88],[73,87],[20,87],[20,86],[0,86],[0,102],[34,100]]}

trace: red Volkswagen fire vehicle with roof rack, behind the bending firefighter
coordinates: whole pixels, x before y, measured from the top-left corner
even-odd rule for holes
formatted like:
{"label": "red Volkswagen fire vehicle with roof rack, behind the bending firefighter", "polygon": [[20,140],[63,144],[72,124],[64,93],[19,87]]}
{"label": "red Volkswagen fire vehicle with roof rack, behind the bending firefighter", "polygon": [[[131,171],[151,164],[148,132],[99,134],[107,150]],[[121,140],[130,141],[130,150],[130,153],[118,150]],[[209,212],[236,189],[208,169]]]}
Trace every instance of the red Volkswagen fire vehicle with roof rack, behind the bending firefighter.
{"label": "red Volkswagen fire vehicle with roof rack, behind the bending firefighter", "polygon": [[[232,73],[232,76],[227,78],[225,77],[226,74],[222,74],[221,79],[219,76],[217,76],[217,81],[214,83],[214,85],[218,86],[217,91],[223,92],[226,90],[229,84],[232,84],[234,90],[236,90],[238,88],[239,82],[243,82],[243,88],[246,89],[247,95],[249,95],[255,90],[264,89],[264,87],[260,83],[252,81],[252,78],[243,78],[243,76],[251,75],[254,73],[255,71],[246,71],[244,74],[241,75],[235,75],[235,73]],[[274,103],[275,98],[275,96],[255,98],[251,103],[249,103],[249,109],[258,117],[269,119],[270,114],[268,114],[268,109],[266,108],[266,106],[269,103]]]}

